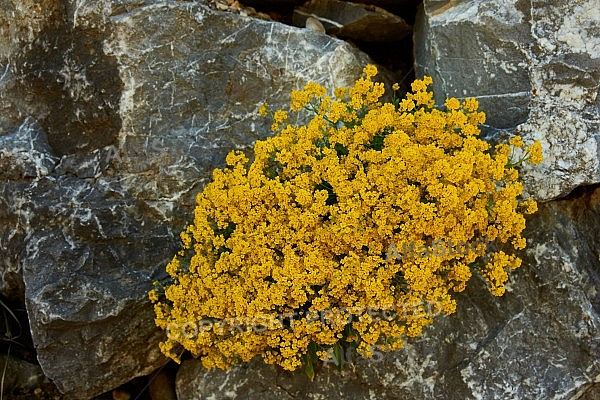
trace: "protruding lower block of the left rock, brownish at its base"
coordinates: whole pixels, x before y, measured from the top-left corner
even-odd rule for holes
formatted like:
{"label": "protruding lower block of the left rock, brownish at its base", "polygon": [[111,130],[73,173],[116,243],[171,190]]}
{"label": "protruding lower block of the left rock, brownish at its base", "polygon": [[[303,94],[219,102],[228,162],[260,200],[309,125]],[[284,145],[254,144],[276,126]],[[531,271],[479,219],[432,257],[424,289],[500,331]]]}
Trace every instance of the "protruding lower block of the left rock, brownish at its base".
{"label": "protruding lower block of the left rock, brownish at its base", "polygon": [[45,374],[89,398],[162,365],[146,289],[175,249],[171,227],[116,179],[48,177],[29,195],[21,263]]}

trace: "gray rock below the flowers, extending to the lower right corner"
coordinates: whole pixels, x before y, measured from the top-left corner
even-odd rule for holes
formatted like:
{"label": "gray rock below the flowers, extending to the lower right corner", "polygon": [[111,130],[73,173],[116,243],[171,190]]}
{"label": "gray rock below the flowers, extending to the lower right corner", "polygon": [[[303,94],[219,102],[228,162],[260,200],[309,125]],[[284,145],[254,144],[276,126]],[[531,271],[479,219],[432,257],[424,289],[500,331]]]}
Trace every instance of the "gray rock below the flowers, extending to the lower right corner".
{"label": "gray rock below the flowers, extending to the lower right corner", "polygon": [[314,383],[260,362],[207,372],[188,360],[178,373],[178,398],[598,398],[600,189],[541,205],[527,237],[524,265],[504,297],[475,280],[456,314],[394,357],[357,360],[342,374],[330,364]]}

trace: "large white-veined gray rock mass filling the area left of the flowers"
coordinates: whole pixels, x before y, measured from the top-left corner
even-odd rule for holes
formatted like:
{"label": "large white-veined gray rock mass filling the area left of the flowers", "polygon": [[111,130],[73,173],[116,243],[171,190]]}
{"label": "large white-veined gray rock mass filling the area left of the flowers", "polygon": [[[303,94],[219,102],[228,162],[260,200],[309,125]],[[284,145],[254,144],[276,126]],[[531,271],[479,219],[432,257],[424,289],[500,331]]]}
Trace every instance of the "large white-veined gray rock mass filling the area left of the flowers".
{"label": "large white-veined gray rock mass filling the area left of the flowers", "polygon": [[369,60],[197,2],[4,2],[0,21],[2,290],[22,269],[45,374],[90,398],[164,363],[146,293],[212,170],[269,134],[259,105]]}

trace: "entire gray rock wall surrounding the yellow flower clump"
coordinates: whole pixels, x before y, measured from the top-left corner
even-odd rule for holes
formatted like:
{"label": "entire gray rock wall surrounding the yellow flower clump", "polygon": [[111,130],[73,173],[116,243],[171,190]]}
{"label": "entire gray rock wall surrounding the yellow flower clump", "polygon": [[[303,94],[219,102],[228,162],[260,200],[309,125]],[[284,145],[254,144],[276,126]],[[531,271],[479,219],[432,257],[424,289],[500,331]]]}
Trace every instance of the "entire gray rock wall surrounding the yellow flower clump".
{"label": "entire gray rock wall surrounding the yellow flower clump", "polygon": [[[600,398],[596,0],[364,2],[0,4],[4,398]],[[492,142],[541,141],[507,295],[476,281],[399,361],[311,386],[256,363],[167,363],[147,291],[195,194],[268,134],[262,102],[347,86],[368,62],[405,88],[433,76],[439,102],[478,98]]]}

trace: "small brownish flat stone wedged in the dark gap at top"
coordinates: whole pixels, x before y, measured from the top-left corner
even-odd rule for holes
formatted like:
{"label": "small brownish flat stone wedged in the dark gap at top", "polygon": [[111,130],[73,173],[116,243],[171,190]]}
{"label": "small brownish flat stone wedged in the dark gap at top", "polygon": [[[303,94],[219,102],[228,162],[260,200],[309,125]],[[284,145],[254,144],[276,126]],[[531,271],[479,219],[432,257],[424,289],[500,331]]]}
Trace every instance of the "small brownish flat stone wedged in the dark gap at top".
{"label": "small brownish flat stone wedged in the dark gap at top", "polygon": [[402,18],[377,6],[340,0],[311,0],[294,9],[294,25],[317,18],[328,34],[365,42],[398,41],[412,32]]}

